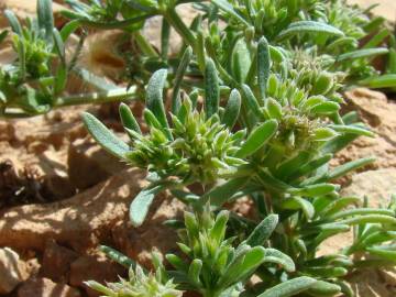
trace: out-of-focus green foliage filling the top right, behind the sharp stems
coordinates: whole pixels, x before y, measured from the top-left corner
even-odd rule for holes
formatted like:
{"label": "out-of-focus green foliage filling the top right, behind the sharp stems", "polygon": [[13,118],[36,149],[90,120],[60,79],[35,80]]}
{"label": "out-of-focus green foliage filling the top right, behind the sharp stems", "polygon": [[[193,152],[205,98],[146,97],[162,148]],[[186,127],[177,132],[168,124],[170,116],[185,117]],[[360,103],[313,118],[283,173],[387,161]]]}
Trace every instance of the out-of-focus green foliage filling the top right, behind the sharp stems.
{"label": "out-of-focus green foliage filling the top right, behind the sharp stems", "polygon": [[[369,81],[386,78],[381,78],[371,63],[375,57],[388,53],[386,47],[381,46],[386,44],[391,33],[384,26],[383,18],[370,18],[370,10],[348,6],[344,0],[217,0],[211,4],[200,4],[208,14],[215,10],[213,7],[220,13],[219,16],[208,15],[211,29],[217,28],[219,19],[231,20],[227,21],[227,34],[212,36],[208,41],[210,47],[216,48],[219,62],[224,62],[222,66],[226,68],[234,53],[229,51],[230,46],[237,48],[241,42],[246,43],[245,48],[251,52],[254,40],[264,35],[272,46],[280,45],[284,51],[292,52],[298,48],[310,61],[324,58],[324,69],[342,72],[348,85],[364,86]],[[211,30],[211,35],[213,32]],[[292,57],[295,57],[294,53]]]}

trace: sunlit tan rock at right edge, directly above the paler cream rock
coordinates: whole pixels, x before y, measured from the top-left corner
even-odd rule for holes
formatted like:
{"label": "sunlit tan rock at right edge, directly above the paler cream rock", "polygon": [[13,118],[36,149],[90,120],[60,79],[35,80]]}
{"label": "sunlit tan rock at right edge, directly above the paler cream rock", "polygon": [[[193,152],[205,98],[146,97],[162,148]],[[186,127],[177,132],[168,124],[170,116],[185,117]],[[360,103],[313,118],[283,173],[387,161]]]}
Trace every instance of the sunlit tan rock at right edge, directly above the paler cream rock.
{"label": "sunlit tan rock at right edge, directly above the paler cream rock", "polygon": [[396,105],[378,91],[358,88],[345,94],[346,110],[355,110],[360,118],[376,133],[374,139],[359,138],[337,154],[337,163],[375,156],[369,168],[396,167]]}

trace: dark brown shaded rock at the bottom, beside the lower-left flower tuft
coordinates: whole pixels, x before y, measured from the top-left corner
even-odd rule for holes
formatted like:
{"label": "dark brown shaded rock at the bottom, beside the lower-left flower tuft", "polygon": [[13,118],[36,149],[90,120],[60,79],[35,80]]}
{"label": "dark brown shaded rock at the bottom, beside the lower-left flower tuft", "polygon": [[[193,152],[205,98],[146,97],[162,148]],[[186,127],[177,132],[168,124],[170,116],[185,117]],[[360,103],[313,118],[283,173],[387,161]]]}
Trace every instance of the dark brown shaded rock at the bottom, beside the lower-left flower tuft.
{"label": "dark brown shaded rock at the bottom, beside the lower-left flower tuft", "polygon": [[84,288],[90,297],[98,297],[100,294],[87,287],[84,282],[97,280],[101,284],[117,282],[119,276],[124,276],[125,273],[124,267],[103,255],[87,255],[72,263],[69,284]]}

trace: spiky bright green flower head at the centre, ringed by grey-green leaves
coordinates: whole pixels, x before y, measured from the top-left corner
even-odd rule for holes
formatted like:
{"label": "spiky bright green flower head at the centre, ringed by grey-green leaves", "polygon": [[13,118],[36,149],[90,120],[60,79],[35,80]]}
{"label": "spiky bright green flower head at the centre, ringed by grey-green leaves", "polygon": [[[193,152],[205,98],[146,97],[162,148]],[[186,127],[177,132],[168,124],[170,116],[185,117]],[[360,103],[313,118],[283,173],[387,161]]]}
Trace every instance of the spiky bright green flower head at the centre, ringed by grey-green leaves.
{"label": "spiky bright green flower head at the centre, ringed by grey-green leaves", "polygon": [[179,113],[170,118],[172,139],[154,125],[146,135],[130,131],[132,151],[127,158],[131,164],[202,184],[213,183],[222,172],[244,164],[234,157],[244,132],[230,132],[218,114],[208,119],[186,98]]}

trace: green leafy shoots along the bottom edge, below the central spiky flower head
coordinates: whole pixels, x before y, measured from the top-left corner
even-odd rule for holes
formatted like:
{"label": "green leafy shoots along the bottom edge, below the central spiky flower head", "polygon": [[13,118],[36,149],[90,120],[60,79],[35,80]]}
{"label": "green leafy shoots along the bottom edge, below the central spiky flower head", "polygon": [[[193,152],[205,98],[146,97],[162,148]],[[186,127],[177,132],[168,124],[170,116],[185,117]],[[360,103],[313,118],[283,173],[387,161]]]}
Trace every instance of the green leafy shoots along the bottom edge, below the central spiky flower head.
{"label": "green leafy shoots along the bottom edge, below the central spiky flower head", "polygon": [[[205,297],[251,296],[254,287],[246,289],[244,284],[261,267],[267,272],[264,282],[256,285],[265,288],[260,294],[261,297],[274,296],[275,292],[277,296],[292,296],[332,287],[329,283],[317,282],[311,277],[294,277],[293,260],[273,248],[266,248],[277,226],[277,216],[265,218],[246,240],[235,244],[237,238],[226,239],[229,211],[220,211],[215,218],[208,207],[207,205],[205,212],[185,213],[184,227],[179,229],[182,242],[178,246],[182,254],[166,254],[173,270],[166,270],[158,256],[153,254],[156,274],[147,277],[132,260],[103,246],[102,251],[111,258],[131,267],[131,280],[121,279],[120,283],[108,286],[96,282],[87,284],[106,296],[179,296],[182,293],[174,290],[169,280],[173,279],[179,289],[197,292]],[[133,273],[134,266],[136,274]],[[282,271],[284,273],[279,273]],[[338,288],[336,290],[339,292]]]}

